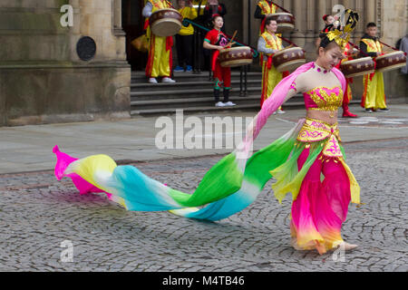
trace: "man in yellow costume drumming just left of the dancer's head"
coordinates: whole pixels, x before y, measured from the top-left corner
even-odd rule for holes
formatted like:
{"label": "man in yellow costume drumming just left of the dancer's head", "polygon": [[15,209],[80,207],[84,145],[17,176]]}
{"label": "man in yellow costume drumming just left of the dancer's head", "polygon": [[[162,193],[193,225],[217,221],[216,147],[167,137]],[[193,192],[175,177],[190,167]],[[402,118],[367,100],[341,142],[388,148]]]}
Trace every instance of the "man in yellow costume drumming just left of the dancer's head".
{"label": "man in yellow costume drumming just left of the dancer's head", "polygon": [[[270,96],[277,83],[280,82],[287,72],[279,73],[276,67],[272,63],[272,57],[274,53],[284,49],[282,45],[282,39],[278,37],[280,34],[277,32],[277,21],[272,17],[267,17],[265,20],[265,32],[261,34],[257,41],[257,51],[263,53],[262,60],[262,94],[261,94],[261,108],[263,103]],[[285,74],[285,75],[284,75]],[[283,114],[282,108],[279,107],[277,113]]]}

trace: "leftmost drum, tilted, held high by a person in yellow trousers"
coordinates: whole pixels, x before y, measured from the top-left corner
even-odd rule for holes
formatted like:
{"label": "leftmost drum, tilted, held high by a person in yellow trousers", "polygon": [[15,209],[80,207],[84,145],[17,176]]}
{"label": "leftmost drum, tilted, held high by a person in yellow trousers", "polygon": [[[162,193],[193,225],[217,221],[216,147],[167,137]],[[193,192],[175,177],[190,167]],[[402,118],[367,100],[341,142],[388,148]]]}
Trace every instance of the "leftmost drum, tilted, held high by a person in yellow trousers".
{"label": "leftmost drum, tilted, held high by a person in yellow trousers", "polygon": [[173,36],[181,29],[183,16],[171,8],[159,9],[151,14],[149,23],[151,32],[157,36]]}

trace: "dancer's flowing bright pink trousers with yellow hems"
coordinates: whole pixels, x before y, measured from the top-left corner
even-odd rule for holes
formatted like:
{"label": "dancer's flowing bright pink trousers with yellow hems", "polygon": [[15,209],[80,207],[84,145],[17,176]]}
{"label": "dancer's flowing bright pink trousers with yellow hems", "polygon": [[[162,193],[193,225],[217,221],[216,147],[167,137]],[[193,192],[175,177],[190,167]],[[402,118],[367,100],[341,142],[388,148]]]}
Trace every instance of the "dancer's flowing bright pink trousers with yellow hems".
{"label": "dancer's flowing bright pink trousers with yellow hems", "polygon": [[[306,162],[309,150],[297,160],[300,170]],[[319,157],[322,155],[320,154]],[[319,160],[307,171],[299,194],[292,204],[291,227],[296,232],[299,247],[310,247],[316,240],[332,245],[342,241],[341,227],[347,217],[350,203],[350,181],[342,163],[335,159]],[[321,173],[325,179],[320,181]],[[317,248],[320,253],[325,250]]]}

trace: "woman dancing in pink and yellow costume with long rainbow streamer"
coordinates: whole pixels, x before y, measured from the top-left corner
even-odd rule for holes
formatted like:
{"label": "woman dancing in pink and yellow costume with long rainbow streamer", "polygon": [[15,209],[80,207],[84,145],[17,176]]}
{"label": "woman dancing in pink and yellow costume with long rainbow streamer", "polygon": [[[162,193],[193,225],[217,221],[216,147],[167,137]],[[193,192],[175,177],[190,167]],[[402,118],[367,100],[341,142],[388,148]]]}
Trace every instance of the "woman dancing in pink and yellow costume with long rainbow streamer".
{"label": "woman dancing in pink and yellow costume with long rainbow streamer", "polygon": [[[349,18],[350,20],[350,18]],[[353,24],[353,21],[352,21]],[[360,188],[345,164],[337,126],[345,77],[335,68],[342,57],[351,24],[345,32],[328,33],[314,63],[300,66],[277,85],[238,149],[209,169],[193,194],[187,194],[150,179],[132,166],[117,166],[106,155],[76,160],[55,147],[55,176],[68,176],[80,190],[106,192],[108,198],[128,210],[170,210],[186,218],[219,220],[248,207],[274,177],[272,188],[279,202],[292,193],[292,245],[323,254],[335,247],[345,250],[341,226],[350,201],[360,203]],[[266,148],[251,154],[252,142],[279,106],[303,92],[306,119]],[[324,177],[322,181],[322,176]],[[206,205],[204,208],[196,208]]]}

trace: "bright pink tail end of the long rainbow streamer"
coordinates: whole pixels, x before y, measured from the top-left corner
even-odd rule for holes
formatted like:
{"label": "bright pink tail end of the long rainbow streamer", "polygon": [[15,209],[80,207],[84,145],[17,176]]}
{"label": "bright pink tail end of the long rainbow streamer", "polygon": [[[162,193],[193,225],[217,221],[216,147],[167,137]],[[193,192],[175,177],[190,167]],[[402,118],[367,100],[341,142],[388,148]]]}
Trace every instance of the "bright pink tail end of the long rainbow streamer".
{"label": "bright pink tail end of the long rainbow streamer", "polygon": [[[76,189],[79,190],[80,194],[85,194],[88,192],[105,192],[102,189],[98,189],[94,187],[91,183],[81,178],[76,173],[71,173],[71,174],[63,173],[65,169],[71,163],[73,163],[73,161],[78,160],[78,159],[73,158],[69,156],[68,154],[61,152],[58,146],[56,145],[53,148],[53,153],[56,155],[56,158],[57,158],[57,162],[56,162],[55,169],[54,169],[54,174],[55,174],[56,179],[61,180],[63,179],[63,177],[71,178],[73,180],[73,185],[75,186]],[[107,192],[106,194],[108,195],[108,198],[111,197],[111,194]]]}

